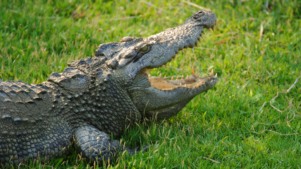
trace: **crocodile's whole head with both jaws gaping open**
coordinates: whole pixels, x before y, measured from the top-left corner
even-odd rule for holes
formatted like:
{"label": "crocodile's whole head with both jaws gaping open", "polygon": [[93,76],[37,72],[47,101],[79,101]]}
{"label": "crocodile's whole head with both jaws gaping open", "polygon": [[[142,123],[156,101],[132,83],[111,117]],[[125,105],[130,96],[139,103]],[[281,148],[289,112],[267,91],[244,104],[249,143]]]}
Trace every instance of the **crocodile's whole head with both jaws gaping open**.
{"label": "crocodile's whole head with both jaws gaping open", "polygon": [[120,42],[101,44],[96,56],[106,58],[106,65],[130,81],[127,91],[144,117],[169,118],[177,114],[196,95],[214,87],[213,72],[199,78],[191,76],[175,80],[150,77],[151,69],[161,67],[184,48],[194,48],[204,28],[216,24],[211,11],[197,11],[180,26],[166,29],[147,38],[124,37]]}

